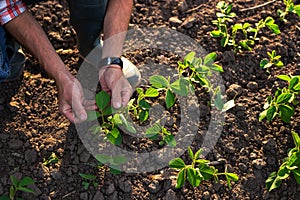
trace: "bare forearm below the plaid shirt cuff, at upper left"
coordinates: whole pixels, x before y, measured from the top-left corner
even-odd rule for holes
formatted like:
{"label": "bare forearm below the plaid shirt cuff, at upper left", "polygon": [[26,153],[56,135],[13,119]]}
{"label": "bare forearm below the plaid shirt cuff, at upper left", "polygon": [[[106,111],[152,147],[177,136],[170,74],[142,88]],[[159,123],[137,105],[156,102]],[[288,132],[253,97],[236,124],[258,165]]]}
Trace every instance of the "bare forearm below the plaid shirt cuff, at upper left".
{"label": "bare forearm below the plaid shirt cuff, at upper left", "polygon": [[67,68],[55,52],[45,32],[28,11],[4,26],[22,46],[33,54],[56,81],[60,81],[63,76],[68,74]]}

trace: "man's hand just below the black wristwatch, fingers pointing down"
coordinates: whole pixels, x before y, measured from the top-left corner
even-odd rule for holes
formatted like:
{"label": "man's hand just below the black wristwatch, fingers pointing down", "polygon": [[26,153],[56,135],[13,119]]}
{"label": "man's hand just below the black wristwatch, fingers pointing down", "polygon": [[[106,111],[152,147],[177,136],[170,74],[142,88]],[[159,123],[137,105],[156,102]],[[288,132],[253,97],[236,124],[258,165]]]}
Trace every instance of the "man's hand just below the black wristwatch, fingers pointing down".
{"label": "man's hand just below the black wristwatch, fingers pointing down", "polygon": [[124,77],[120,66],[110,65],[100,69],[99,81],[102,90],[110,94],[111,104],[115,109],[127,105],[133,89]]}

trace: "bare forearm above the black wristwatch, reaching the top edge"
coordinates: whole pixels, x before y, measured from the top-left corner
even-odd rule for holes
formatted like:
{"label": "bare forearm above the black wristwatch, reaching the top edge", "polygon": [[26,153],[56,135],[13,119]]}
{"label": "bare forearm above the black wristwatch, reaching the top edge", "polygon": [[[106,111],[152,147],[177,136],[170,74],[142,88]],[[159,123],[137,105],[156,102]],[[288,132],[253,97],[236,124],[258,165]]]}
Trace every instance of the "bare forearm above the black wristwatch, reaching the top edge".
{"label": "bare forearm above the black wristwatch, reaching the top edge", "polygon": [[122,55],[132,7],[133,0],[109,0],[104,19],[102,57]]}

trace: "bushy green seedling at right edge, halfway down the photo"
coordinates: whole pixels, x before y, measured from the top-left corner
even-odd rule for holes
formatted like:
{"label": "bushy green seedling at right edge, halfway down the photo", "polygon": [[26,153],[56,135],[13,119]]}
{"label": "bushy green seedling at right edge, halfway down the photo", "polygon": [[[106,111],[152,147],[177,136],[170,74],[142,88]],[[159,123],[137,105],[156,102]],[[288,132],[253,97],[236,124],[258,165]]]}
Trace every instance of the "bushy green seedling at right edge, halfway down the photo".
{"label": "bushy green seedling at right edge, halfway down the photo", "polygon": [[259,121],[267,118],[272,121],[276,116],[280,116],[282,121],[289,123],[295,113],[294,105],[298,104],[297,95],[300,91],[300,76],[280,75],[278,78],[289,83],[287,88],[277,89],[274,98],[267,97],[264,111],[260,113]]}

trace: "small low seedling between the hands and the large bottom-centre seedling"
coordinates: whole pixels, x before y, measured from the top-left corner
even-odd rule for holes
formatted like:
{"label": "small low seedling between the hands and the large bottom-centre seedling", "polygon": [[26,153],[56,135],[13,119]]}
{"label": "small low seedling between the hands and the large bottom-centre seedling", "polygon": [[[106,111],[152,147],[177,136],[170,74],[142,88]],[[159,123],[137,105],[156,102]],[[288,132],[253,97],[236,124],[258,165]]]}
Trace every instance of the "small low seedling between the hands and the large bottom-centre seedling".
{"label": "small low seedling between the hands and the large bottom-centre seedling", "polygon": [[169,147],[176,147],[174,135],[172,135],[164,126],[160,125],[159,122],[146,130],[146,136],[152,140],[161,137],[162,140],[159,142],[160,145],[167,144]]}

